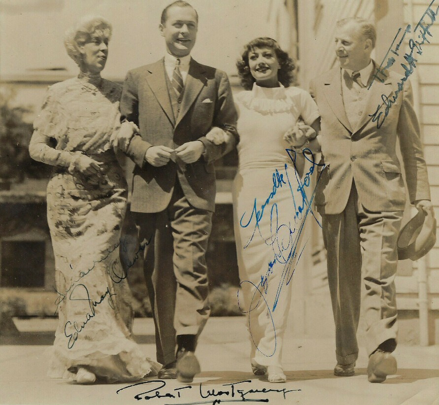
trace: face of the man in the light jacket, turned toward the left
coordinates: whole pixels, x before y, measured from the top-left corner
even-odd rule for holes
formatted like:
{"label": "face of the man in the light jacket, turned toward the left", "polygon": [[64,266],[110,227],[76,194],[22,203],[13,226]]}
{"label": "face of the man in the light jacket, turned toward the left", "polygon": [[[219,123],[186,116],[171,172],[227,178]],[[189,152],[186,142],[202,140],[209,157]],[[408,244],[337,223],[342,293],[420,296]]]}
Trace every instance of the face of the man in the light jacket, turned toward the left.
{"label": "face of the man in the light jacket, turned toward the left", "polygon": [[372,41],[362,33],[360,26],[348,23],[336,31],[336,54],[341,68],[361,70],[371,61]]}

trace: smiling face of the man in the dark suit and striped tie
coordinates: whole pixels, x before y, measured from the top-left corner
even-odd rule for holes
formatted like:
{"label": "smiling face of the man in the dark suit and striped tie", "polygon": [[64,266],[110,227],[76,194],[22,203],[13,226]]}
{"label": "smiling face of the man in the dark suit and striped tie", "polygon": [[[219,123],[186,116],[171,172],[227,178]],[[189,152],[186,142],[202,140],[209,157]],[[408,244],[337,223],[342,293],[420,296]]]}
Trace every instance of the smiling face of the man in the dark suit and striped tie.
{"label": "smiling face of the man in the dark suit and striped tie", "polygon": [[170,7],[165,23],[160,24],[160,32],[165,37],[168,52],[177,58],[191,53],[197,30],[197,14],[192,7]]}

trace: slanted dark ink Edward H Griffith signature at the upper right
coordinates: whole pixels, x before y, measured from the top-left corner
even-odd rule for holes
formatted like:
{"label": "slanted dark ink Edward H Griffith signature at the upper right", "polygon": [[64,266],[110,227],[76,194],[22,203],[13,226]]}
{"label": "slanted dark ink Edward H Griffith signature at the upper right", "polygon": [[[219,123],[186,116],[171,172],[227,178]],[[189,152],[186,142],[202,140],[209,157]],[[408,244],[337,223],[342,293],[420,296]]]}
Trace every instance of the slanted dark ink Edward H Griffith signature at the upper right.
{"label": "slanted dark ink Edward H Griffith signature at the upper right", "polygon": [[[427,42],[430,43],[427,36],[433,37],[433,35],[430,33],[430,27],[435,23],[436,16],[439,13],[439,5],[436,8],[436,11],[432,10],[431,6],[436,0],[433,0],[430,5],[428,6],[427,10],[424,12],[422,17],[420,18],[419,22],[416,24],[416,27],[413,30],[413,33],[417,34],[417,30],[420,30],[420,34],[418,34],[418,38],[422,39],[422,42],[419,42],[418,40],[414,40],[413,38],[410,38],[408,41],[408,47],[410,48],[410,53],[405,53],[404,59],[407,64],[402,63],[401,66],[404,68],[404,77],[401,78],[401,80],[398,82],[398,88],[394,91],[394,95],[391,98],[388,98],[385,94],[381,95],[381,100],[383,101],[381,104],[378,104],[376,107],[376,110],[373,114],[369,114],[370,117],[372,117],[372,122],[376,122],[376,128],[381,128],[383,125],[387,115],[389,114],[390,108],[392,108],[393,104],[398,99],[398,96],[400,92],[404,89],[404,84],[407,81],[407,79],[410,77],[410,75],[413,73],[414,69],[416,68],[416,63],[418,60],[414,58],[414,53],[416,52],[417,55],[422,55],[422,46]],[[424,21],[424,18],[429,17],[431,22],[429,24],[426,24]],[[393,64],[396,62],[395,58],[393,56],[390,56],[387,59],[387,64],[383,68],[384,62],[386,58],[388,57],[389,53],[392,52],[396,56],[400,56],[399,49],[401,47],[401,44],[404,41],[405,35],[409,34],[411,32],[411,26],[410,24],[405,27],[405,30],[401,36],[401,39],[396,44],[395,48],[393,48],[398,36],[400,35],[402,31],[402,28],[400,28],[395,35],[395,38],[393,39],[389,50],[387,51],[386,55],[384,56],[384,59],[382,60],[379,68],[376,69],[376,73],[373,75],[371,84],[368,87],[368,90],[371,88],[371,85],[373,84],[374,80],[377,79],[381,83],[384,83],[384,81],[387,79],[386,69],[393,66]],[[384,107],[384,112],[382,111],[382,108]],[[382,116],[384,114],[384,116]]]}

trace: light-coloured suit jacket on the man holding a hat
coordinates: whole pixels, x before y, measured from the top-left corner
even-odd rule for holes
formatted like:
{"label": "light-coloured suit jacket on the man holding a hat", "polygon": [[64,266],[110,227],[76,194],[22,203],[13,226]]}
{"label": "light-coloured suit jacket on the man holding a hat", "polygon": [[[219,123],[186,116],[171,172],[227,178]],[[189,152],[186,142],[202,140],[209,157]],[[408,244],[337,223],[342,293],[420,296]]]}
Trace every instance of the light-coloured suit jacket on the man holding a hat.
{"label": "light-coloured suit jacket on the man holding a hat", "polygon": [[[321,116],[322,160],[326,164],[315,195],[317,209],[323,214],[343,211],[349,198],[352,179],[365,208],[379,211],[403,210],[405,188],[401,165],[396,155],[399,137],[410,202],[430,200],[427,168],[422,152],[419,124],[413,109],[413,94],[408,81],[388,110],[382,126],[370,114],[382,104],[382,95],[393,100],[401,75],[385,72],[384,83],[375,80],[367,92],[366,106],[355,128],[347,119],[341,93],[341,69],[333,68],[310,84],[310,93]],[[384,117],[380,116],[379,122]]]}

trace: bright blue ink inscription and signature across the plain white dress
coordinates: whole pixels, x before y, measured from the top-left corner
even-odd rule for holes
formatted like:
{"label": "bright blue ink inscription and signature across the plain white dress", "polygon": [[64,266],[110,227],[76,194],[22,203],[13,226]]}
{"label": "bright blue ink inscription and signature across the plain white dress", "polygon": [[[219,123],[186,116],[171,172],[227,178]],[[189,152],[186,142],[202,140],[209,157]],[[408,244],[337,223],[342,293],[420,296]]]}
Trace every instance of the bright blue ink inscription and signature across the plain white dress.
{"label": "bright blue ink inscription and signature across the plain white dress", "polygon": [[[292,149],[286,149],[286,152],[288,153],[288,156],[293,163],[294,167],[294,173],[295,173],[295,180],[296,185],[294,186],[295,190],[300,193],[300,199],[301,201],[296,201],[297,196],[295,196],[295,193],[293,192],[293,178],[290,179],[288,165],[285,164],[285,173],[280,173],[277,169],[273,173],[273,190],[270,193],[269,197],[266,199],[266,201],[261,205],[261,209],[257,209],[257,199],[254,200],[253,203],[253,211],[250,216],[250,219],[247,223],[240,223],[240,226],[242,228],[248,227],[252,220],[254,219],[254,230],[252,236],[249,238],[247,243],[244,246],[244,249],[250,244],[250,242],[253,240],[253,237],[256,233],[256,229],[258,229],[259,234],[261,235],[261,231],[259,229],[259,224],[262,220],[263,213],[265,207],[273,200],[276,191],[278,188],[284,186],[288,187],[290,189],[290,193],[293,200],[293,208],[294,208],[294,225],[292,225],[291,221],[285,224],[279,225],[279,213],[278,213],[278,207],[276,202],[272,202],[271,209],[270,209],[270,237],[268,239],[264,239],[264,242],[266,245],[270,246],[273,251],[273,259],[270,260],[268,263],[268,270],[264,275],[261,275],[261,281],[258,285],[253,283],[249,280],[244,280],[240,283],[240,286],[244,286],[246,283],[249,284],[249,288],[254,291],[251,303],[249,305],[248,309],[243,309],[239,305],[239,291],[238,291],[238,306],[242,313],[248,314],[248,323],[249,323],[249,330],[250,335],[252,336],[253,342],[257,349],[264,354],[267,357],[271,357],[276,350],[277,345],[277,339],[276,339],[276,329],[274,325],[274,320],[272,317],[272,311],[276,309],[278,300],[280,298],[280,294],[282,291],[282,287],[284,285],[289,285],[291,278],[294,274],[295,267],[297,263],[299,262],[301,255],[304,251],[306,243],[304,243],[304,246],[302,250],[299,250],[300,241],[302,232],[304,230],[305,221],[307,218],[307,215],[309,213],[312,214],[317,224],[321,227],[321,224],[315,217],[312,209],[311,209],[311,203],[314,199],[315,195],[315,188],[311,191],[310,197],[307,196],[306,191],[309,190],[309,186],[311,183],[311,176],[314,174],[316,167],[322,167],[325,168],[325,164],[318,164],[315,162],[314,155],[309,149],[304,149],[303,155],[305,157],[305,160],[310,163],[308,171],[304,175],[304,180],[302,181],[297,167],[296,167],[296,158],[297,153],[296,151]],[[309,155],[308,155],[309,153]],[[323,170],[322,170],[323,171]],[[284,174],[286,181],[284,180]],[[321,175],[321,174],[320,174]],[[317,179],[316,184],[318,183],[320,179],[320,176]],[[308,193],[309,194],[309,193]],[[285,213],[283,213],[283,217],[285,217]],[[242,220],[243,216],[241,217]],[[282,236],[280,236],[282,234]],[[265,298],[264,295],[267,295],[268,293],[268,281],[270,275],[273,273],[273,267],[274,265],[278,263],[280,265],[283,265],[283,271],[280,277],[280,282],[277,286],[277,292],[274,298],[274,302],[272,304],[269,304]],[[270,288],[274,288],[273,286]],[[251,311],[255,310],[259,305],[264,304],[267,307],[267,314],[270,317],[270,321],[274,330],[274,347],[271,353],[263,353],[262,350],[258,347],[257,343],[254,341],[253,335],[251,334]],[[272,306],[271,306],[272,305]]]}

